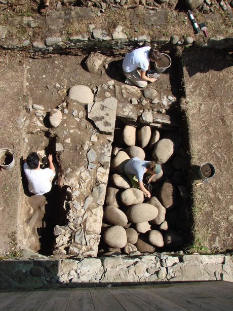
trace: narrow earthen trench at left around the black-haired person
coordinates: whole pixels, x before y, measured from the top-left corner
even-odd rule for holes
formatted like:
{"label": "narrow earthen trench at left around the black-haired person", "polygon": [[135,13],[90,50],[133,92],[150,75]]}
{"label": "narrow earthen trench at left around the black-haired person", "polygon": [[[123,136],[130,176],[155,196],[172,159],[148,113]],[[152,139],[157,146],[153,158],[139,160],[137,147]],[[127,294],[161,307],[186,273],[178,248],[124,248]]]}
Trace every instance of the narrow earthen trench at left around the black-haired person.
{"label": "narrow earthen trench at left around the black-haired person", "polygon": [[[55,151],[56,137],[46,131],[36,134],[28,133],[27,140],[29,152],[38,152],[42,163],[41,168],[48,167],[47,156],[52,154],[56,169],[56,177],[52,181],[51,191],[45,195],[33,195],[29,192],[28,183],[22,171],[22,183],[25,193],[24,235],[29,249],[50,256],[53,253],[55,243],[54,227],[56,225],[63,226],[67,222],[64,206],[66,189],[58,186],[59,164]],[[41,151],[44,151],[45,157],[41,155]]]}

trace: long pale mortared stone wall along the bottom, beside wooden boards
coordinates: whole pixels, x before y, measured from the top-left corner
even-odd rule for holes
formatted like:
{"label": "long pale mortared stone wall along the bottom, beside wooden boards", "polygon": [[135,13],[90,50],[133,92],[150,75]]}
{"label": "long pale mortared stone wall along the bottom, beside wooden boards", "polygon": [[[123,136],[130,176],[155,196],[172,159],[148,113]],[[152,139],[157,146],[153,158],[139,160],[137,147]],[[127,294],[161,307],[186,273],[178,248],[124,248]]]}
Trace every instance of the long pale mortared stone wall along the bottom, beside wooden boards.
{"label": "long pale mortared stone wall along the bottom, beside wooden boards", "polygon": [[233,256],[153,254],[85,259],[20,258],[0,262],[1,288],[50,288],[189,281],[233,282]]}

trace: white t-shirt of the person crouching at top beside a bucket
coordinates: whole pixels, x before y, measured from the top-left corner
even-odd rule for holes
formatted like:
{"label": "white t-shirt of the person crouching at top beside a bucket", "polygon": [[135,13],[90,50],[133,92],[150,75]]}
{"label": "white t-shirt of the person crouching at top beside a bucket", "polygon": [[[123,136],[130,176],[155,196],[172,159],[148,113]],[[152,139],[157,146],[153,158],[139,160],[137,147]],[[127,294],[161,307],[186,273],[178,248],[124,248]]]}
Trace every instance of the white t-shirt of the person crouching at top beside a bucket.
{"label": "white t-shirt of the person crouching at top beside a bucket", "polygon": [[143,47],[136,49],[126,54],[123,60],[123,70],[126,73],[130,73],[140,67],[142,71],[147,71],[149,67],[149,50],[150,47]]}

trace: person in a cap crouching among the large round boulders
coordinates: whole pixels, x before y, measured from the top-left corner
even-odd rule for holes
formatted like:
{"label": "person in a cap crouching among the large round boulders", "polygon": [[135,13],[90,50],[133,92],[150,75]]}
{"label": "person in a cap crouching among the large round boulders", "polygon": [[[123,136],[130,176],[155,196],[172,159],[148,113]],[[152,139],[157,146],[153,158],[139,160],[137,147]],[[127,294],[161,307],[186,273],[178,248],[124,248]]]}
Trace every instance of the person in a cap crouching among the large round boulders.
{"label": "person in a cap crouching among the large round boulders", "polygon": [[151,174],[148,179],[148,184],[152,178],[161,172],[161,165],[154,161],[144,161],[135,157],[125,164],[125,173],[128,176],[132,186],[134,188],[140,188],[143,193],[150,198],[150,192],[143,185],[143,175],[145,173]]}

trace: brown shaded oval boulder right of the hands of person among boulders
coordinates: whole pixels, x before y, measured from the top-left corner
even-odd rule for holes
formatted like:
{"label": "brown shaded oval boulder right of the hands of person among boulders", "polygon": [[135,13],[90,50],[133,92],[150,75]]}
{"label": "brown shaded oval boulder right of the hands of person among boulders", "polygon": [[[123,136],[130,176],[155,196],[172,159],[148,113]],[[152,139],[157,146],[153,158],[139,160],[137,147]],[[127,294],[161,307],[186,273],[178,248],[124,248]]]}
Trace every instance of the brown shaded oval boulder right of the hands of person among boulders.
{"label": "brown shaded oval boulder right of the hands of person among boulders", "polygon": [[175,204],[176,188],[167,180],[160,189],[160,201],[165,209],[171,209]]}

